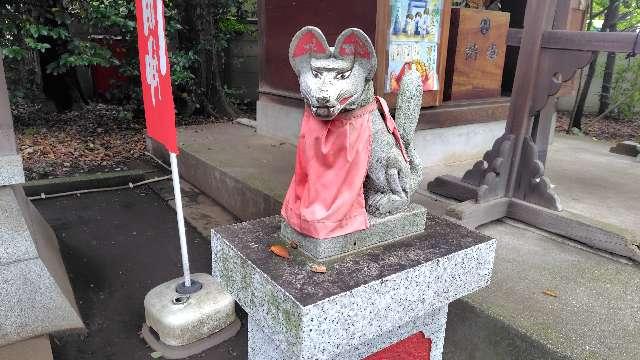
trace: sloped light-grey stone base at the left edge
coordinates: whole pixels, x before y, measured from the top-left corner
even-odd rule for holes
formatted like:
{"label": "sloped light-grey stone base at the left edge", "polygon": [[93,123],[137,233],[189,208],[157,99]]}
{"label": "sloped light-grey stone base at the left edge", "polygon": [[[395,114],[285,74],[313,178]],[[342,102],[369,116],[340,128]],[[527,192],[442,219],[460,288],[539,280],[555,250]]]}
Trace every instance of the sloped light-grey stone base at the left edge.
{"label": "sloped light-grey stone base at the left edge", "polygon": [[21,186],[1,186],[0,346],[83,327],[53,230]]}

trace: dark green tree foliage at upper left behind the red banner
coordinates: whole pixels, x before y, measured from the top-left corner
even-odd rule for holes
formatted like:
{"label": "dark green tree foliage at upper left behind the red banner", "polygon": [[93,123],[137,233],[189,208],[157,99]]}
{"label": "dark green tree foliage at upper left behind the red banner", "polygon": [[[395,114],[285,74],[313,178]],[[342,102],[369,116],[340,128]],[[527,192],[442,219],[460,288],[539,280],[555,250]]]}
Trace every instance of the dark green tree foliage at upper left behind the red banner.
{"label": "dark green tree foliage at upper left behind the red banner", "polygon": [[[256,1],[164,0],[164,6],[174,95],[177,103],[182,99],[197,108],[192,104],[207,91],[199,88],[196,74],[220,70],[207,68],[207,52],[223,60],[229,41],[249,30],[245,19],[255,16]],[[0,16],[1,53],[9,61],[55,50],[48,73],[115,66],[129,80],[113,84],[107,99],[140,108],[133,0],[10,0],[0,6]],[[116,48],[124,51],[116,56]]]}

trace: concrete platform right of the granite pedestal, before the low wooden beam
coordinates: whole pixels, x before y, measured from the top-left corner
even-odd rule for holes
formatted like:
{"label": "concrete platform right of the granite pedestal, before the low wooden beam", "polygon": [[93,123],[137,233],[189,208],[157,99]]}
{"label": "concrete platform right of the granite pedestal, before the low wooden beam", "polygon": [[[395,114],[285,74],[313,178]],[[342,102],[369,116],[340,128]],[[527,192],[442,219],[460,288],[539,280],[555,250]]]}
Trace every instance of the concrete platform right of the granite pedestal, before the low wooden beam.
{"label": "concrete platform right of the granite pedestal, before the low wooden beam", "polygon": [[637,265],[518,224],[478,230],[498,241],[494,276],[451,305],[445,359],[640,358]]}

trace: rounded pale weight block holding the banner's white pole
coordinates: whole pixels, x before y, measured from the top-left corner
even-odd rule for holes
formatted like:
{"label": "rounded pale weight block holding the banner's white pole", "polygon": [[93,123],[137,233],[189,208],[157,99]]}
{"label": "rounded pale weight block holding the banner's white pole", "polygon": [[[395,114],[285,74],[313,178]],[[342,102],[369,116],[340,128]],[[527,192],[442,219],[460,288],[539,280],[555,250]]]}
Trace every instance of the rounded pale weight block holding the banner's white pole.
{"label": "rounded pale weight block holding the banner's white pole", "polygon": [[[233,337],[240,329],[235,301],[209,274],[192,274],[202,288],[190,294],[178,291],[178,278],[153,288],[145,296],[142,336],[166,359],[182,359]],[[198,285],[199,286],[199,285]]]}

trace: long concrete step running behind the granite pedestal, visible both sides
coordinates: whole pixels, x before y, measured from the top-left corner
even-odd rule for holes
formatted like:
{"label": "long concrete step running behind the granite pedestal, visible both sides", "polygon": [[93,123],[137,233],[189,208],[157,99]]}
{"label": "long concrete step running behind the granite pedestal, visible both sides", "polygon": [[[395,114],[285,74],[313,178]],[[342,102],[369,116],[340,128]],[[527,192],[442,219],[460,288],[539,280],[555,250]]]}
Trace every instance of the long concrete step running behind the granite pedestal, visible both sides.
{"label": "long concrete step running behind the granite pedestal, visible both sides", "polygon": [[[180,146],[182,176],[237,217],[279,212],[293,173],[292,145],[216,124],[180,129]],[[150,148],[164,156],[152,141]],[[436,213],[448,204],[426,192],[415,200]],[[493,280],[451,304],[445,359],[640,358],[637,265],[521,224],[478,230],[498,241]]]}

